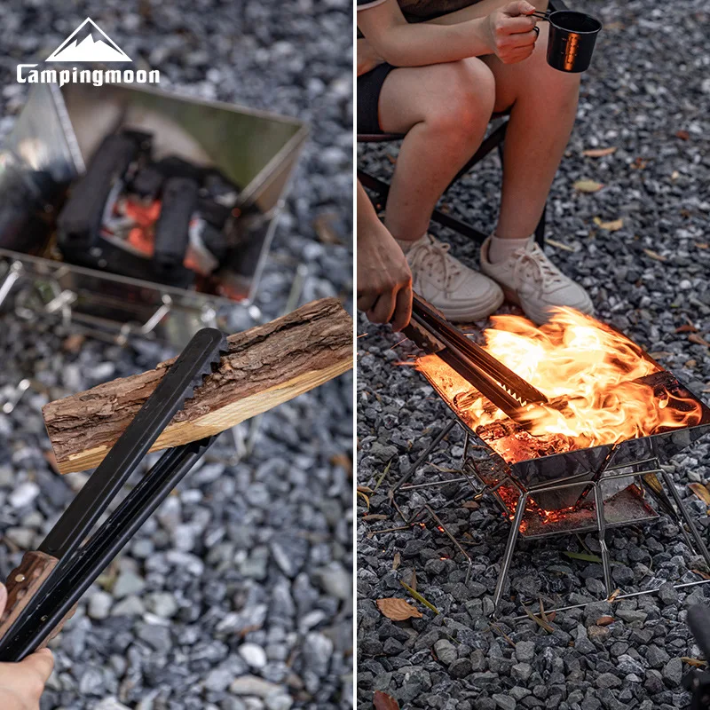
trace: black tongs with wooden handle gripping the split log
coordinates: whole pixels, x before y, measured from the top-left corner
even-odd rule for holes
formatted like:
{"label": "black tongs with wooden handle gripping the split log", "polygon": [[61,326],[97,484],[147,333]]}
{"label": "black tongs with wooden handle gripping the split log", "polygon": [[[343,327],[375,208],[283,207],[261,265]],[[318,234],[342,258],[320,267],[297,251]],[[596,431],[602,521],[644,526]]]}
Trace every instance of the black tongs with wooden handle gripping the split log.
{"label": "black tongs with wooden handle gripping the split log", "polygon": [[0,623],[0,661],[24,659],[59,633],[83,593],[217,438],[162,454],[83,543],[162,430],[226,351],[225,335],[215,328],[203,328],[193,336],[39,549],[25,553],[11,572]]}

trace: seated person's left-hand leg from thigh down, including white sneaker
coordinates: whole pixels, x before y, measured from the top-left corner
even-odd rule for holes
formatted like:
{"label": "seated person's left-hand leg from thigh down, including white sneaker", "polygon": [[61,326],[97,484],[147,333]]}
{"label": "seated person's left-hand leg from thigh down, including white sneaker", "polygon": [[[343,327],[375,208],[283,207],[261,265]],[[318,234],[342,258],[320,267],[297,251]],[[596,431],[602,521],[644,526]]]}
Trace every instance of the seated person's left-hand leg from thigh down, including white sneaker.
{"label": "seated person's left-hand leg from thigh down, including white sneaker", "polygon": [[455,321],[486,318],[503,300],[493,280],[427,234],[441,193],[484,136],[494,95],[493,75],[480,59],[395,69],[380,95],[381,128],[406,133],[385,225],[406,252],[414,291]]}

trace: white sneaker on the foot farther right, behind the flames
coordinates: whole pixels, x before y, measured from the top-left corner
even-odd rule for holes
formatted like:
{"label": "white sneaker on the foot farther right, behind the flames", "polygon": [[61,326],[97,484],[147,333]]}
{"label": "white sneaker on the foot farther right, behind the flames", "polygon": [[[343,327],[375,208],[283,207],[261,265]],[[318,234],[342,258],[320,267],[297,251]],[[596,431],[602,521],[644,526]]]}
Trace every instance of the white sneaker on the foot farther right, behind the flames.
{"label": "white sneaker on the foot farther right, behind the flames", "polygon": [[488,237],[481,247],[481,271],[498,281],[509,300],[520,304],[534,323],[544,323],[558,305],[594,312],[587,291],[565,276],[534,240],[497,264],[488,261],[490,243]]}

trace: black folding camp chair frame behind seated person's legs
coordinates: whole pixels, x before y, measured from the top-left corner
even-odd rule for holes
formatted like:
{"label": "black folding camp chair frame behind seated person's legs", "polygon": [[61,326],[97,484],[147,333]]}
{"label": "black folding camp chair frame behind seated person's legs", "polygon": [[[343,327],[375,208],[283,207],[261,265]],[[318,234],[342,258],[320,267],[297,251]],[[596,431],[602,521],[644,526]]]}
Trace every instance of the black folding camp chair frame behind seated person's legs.
{"label": "black folding camp chair frame behind seated person's legs", "polygon": [[[567,10],[567,6],[564,4],[563,0],[550,0],[549,9],[552,11],[556,10]],[[493,151],[494,148],[498,148],[498,153],[501,156],[501,164],[503,162],[503,141],[505,139],[505,133],[508,129],[508,114],[493,114],[491,120],[502,119],[501,123],[498,124],[493,130],[491,130],[488,135],[484,138],[481,145],[475,154],[469,159],[461,170],[456,174],[456,177],[449,183],[444,191],[444,194],[449,190],[449,188],[457,183],[461,177],[467,175],[470,170],[473,169],[478,162],[481,162],[485,156]],[[398,140],[403,140],[405,138],[404,134],[401,133],[364,133],[358,134],[358,143],[391,143]],[[390,184],[384,182],[379,177],[370,175],[365,170],[358,168],[358,179],[360,183],[372,194],[372,202],[375,205],[375,209],[383,209],[387,203],[387,195],[390,192]],[[547,207],[542,210],[542,216],[540,217],[540,222],[535,227],[535,240],[542,246],[545,240],[545,217],[546,217]],[[452,215],[447,215],[440,209],[435,209],[431,215],[431,219],[438,223],[439,225],[453,229],[454,232],[458,232],[469,239],[482,242],[488,236],[487,233],[483,233],[477,230],[474,226],[467,224],[466,222],[457,219]]]}

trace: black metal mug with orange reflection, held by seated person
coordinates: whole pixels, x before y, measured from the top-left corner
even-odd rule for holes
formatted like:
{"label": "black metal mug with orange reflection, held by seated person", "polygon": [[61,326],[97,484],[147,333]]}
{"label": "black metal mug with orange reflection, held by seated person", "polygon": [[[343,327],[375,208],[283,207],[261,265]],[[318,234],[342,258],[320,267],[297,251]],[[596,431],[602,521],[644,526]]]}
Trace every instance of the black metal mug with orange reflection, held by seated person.
{"label": "black metal mug with orange reflection, held by seated person", "polygon": [[579,74],[589,67],[596,36],[602,23],[584,12],[557,10],[534,12],[533,17],[548,20],[548,64],[561,72]]}

